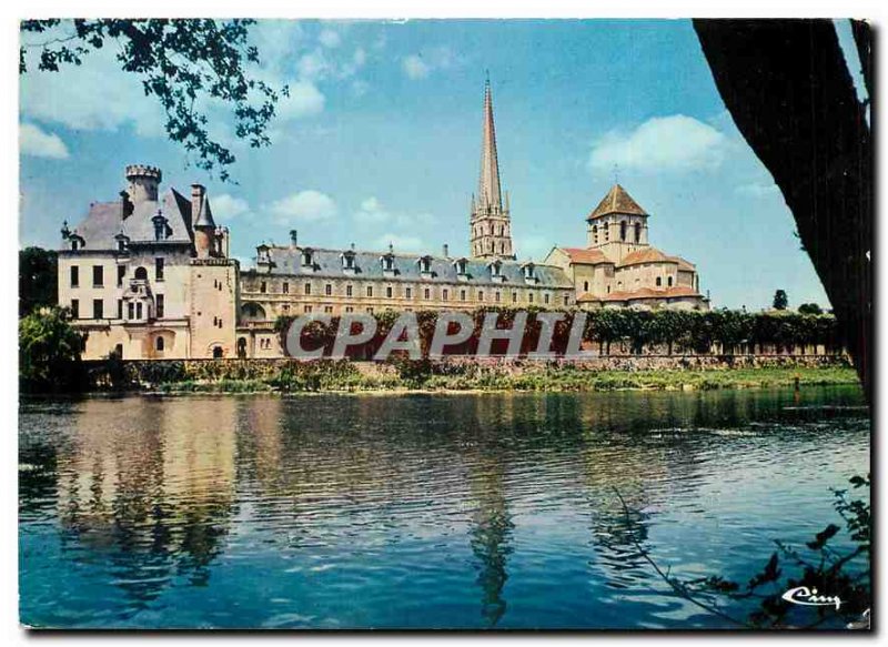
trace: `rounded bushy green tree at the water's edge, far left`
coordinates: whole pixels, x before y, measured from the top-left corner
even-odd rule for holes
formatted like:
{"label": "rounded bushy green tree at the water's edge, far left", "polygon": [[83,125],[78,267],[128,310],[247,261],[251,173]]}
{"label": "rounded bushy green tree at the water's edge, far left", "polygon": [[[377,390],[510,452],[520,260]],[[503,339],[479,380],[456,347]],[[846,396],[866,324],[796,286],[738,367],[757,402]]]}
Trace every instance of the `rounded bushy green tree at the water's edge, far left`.
{"label": "rounded bushy green tree at the water's edge, far left", "polygon": [[80,376],[85,335],[68,323],[60,307],[41,307],[19,321],[21,391],[69,391]]}

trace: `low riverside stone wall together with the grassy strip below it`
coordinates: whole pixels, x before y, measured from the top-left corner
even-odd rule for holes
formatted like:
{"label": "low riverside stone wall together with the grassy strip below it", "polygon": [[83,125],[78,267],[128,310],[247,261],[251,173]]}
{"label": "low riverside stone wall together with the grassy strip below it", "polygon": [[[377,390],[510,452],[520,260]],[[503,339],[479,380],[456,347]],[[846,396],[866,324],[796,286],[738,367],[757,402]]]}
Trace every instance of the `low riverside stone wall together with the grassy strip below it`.
{"label": "low riverside stone wall together with the grassy strip below it", "polygon": [[610,391],[851,383],[842,355],[638,355],[353,362],[292,358],[87,362],[90,391]]}

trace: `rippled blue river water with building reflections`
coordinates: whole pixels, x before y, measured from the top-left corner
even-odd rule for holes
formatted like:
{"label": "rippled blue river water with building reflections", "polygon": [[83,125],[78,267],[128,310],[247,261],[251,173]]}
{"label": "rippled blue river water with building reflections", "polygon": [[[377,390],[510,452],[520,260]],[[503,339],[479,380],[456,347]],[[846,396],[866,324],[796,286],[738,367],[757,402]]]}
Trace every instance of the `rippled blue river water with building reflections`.
{"label": "rippled blue river water with building reflections", "polygon": [[[856,388],[26,401],[22,621],[724,627],[869,469]],[[624,514],[615,488],[630,508]]]}

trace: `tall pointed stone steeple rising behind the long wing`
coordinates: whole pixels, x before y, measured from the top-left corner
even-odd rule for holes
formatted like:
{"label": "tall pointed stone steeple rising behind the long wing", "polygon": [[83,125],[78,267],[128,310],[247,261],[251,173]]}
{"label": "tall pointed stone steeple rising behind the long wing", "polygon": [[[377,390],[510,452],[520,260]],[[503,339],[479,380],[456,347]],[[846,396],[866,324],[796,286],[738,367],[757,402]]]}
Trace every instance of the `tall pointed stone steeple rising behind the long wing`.
{"label": "tall pointed stone steeple rising behind the long wing", "polygon": [[500,185],[500,160],[496,154],[496,128],[493,120],[493,93],[490,77],[484,82],[484,119],[481,132],[481,173],[478,194],[472,200],[471,247],[478,259],[514,259],[508,204],[503,205]]}

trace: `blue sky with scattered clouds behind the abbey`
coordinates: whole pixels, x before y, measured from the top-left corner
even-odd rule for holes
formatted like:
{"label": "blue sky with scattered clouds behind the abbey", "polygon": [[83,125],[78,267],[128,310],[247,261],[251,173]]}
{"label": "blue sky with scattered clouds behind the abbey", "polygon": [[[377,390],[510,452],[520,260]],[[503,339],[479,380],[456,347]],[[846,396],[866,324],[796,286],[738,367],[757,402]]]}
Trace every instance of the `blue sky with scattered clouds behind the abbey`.
{"label": "blue sky with scattered clouds behind the abbey", "polygon": [[[468,251],[468,203],[490,70],[518,257],[584,246],[614,181],[650,214],[650,242],[699,269],[716,306],[826,297],[769,173],[718,97],[688,21],[263,22],[254,73],[291,89],[273,144],[235,142],[236,184],[193,166],[108,48],[21,80],[21,244],[57,246],[63,220],[115,199],[149,163],[181,192],[208,185],[234,255],[262,241]],[[231,117],[210,104],[225,139]]]}

